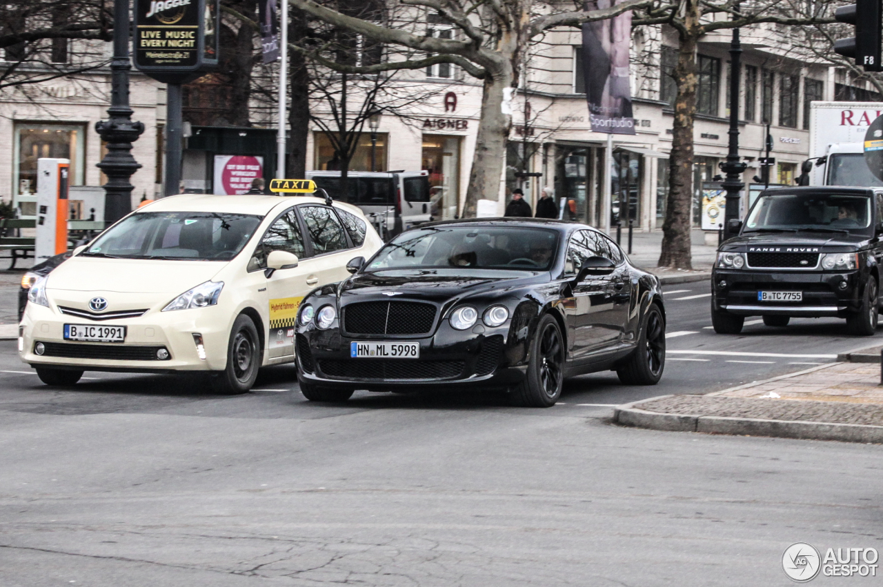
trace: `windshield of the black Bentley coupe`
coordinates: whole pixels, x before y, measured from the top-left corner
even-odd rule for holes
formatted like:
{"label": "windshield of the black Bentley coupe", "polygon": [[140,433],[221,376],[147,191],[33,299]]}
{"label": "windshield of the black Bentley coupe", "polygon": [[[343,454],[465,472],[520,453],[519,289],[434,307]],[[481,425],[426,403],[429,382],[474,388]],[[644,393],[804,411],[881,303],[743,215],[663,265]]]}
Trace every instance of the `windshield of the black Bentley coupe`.
{"label": "windshield of the black Bentley coupe", "polygon": [[503,226],[437,226],[409,230],[384,246],[366,269],[459,267],[547,271],[555,230]]}

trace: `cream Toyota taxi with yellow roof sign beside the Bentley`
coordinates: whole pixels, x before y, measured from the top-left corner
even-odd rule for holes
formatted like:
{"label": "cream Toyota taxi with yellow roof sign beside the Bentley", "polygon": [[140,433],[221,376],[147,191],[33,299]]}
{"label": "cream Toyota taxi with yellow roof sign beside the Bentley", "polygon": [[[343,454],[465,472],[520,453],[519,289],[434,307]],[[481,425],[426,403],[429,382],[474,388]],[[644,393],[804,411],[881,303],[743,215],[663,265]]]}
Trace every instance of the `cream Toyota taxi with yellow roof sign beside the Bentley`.
{"label": "cream Toyota taxi with yellow roof sign beside the Bentley", "polygon": [[242,393],[261,366],[294,360],[300,300],[381,245],[358,207],[330,199],[159,199],[34,282],[19,356],[48,385],[195,371]]}

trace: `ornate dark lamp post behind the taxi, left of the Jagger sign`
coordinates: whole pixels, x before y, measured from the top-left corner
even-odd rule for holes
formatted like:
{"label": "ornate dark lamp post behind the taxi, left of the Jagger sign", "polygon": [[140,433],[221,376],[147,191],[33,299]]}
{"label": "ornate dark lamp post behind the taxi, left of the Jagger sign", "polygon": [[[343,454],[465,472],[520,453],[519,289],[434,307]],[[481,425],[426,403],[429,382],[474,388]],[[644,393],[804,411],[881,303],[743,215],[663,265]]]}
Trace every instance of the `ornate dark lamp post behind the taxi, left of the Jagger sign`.
{"label": "ornate dark lamp post behind the taxi, left of the Jagger sign", "polygon": [[132,157],[132,142],[144,132],[144,124],[132,121],[129,107],[129,0],[114,0],[113,60],[110,62],[110,108],[108,120],[95,123],[95,131],[107,143],[107,154],[98,167],[108,177],[104,184],[104,221],[116,222],[132,211],[132,174],[141,165]]}

